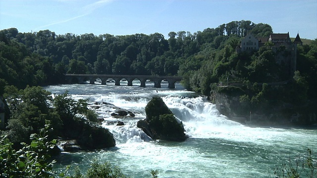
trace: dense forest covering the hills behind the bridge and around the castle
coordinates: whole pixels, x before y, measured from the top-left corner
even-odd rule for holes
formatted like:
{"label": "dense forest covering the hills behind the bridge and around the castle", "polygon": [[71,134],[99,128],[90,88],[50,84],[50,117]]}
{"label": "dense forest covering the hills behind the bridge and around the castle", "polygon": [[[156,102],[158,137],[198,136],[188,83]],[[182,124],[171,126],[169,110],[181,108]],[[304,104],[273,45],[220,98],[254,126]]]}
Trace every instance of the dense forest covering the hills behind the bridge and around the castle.
{"label": "dense forest covering the hills behind the bridge and around the castle", "polygon": [[[271,33],[270,25],[248,20],[193,34],[170,32],[167,40],[159,33],[57,35],[50,30],[19,33],[15,28],[5,29],[0,31],[0,95],[5,86],[24,89],[61,84],[63,74],[69,73],[182,76],[186,89],[211,96],[211,100],[219,90],[239,90],[242,113],[269,110],[273,100],[295,105],[316,100],[317,40],[297,46],[293,78],[285,72],[285,65],[276,62],[277,56],[289,55],[283,46],[272,50],[272,44],[266,43],[257,51],[236,52],[247,34],[261,38]],[[288,83],[280,89],[258,85],[282,81]],[[232,83],[243,85],[217,88]]]}

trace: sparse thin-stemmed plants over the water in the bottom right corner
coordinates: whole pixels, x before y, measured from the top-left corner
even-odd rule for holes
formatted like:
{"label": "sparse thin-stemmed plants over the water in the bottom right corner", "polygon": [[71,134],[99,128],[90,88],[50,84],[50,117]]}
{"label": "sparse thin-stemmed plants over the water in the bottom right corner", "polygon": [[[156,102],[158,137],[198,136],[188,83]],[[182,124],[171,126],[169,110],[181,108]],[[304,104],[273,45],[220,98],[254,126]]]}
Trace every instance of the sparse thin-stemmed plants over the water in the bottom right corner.
{"label": "sparse thin-stemmed plants over the water in the bottom right corner", "polygon": [[276,166],[273,174],[275,178],[316,178],[317,157],[313,154],[312,149],[308,148],[305,156],[298,155],[295,159],[288,158],[281,166]]}

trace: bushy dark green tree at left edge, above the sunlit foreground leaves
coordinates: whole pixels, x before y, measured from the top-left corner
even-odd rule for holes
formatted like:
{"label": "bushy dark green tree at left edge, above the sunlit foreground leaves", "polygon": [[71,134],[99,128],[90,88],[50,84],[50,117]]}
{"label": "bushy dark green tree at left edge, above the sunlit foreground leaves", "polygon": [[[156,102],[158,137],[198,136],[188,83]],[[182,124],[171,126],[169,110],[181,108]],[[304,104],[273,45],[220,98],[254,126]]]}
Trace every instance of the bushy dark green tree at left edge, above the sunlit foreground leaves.
{"label": "bushy dark green tree at left edge, above the sunlit foreground leaves", "polygon": [[[51,93],[41,87],[28,87],[24,90],[17,90],[13,86],[5,88],[4,97],[7,98],[11,111],[8,120],[8,138],[14,143],[29,142],[30,134],[39,134],[40,129],[45,125],[45,120],[56,122],[56,116],[49,113],[49,105],[52,100]],[[54,123],[58,126],[58,122]]]}

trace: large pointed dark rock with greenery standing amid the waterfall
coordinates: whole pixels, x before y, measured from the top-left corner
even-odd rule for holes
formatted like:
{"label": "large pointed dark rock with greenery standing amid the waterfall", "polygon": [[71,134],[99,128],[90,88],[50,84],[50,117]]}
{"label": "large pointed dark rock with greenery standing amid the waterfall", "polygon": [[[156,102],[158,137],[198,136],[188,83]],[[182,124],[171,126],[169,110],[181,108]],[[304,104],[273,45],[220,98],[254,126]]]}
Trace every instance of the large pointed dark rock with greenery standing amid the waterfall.
{"label": "large pointed dark rock with greenery standing amid the waterfall", "polygon": [[188,137],[182,122],[179,122],[160,97],[153,97],[147,104],[146,119],[140,120],[137,127],[141,128],[152,139],[185,141]]}

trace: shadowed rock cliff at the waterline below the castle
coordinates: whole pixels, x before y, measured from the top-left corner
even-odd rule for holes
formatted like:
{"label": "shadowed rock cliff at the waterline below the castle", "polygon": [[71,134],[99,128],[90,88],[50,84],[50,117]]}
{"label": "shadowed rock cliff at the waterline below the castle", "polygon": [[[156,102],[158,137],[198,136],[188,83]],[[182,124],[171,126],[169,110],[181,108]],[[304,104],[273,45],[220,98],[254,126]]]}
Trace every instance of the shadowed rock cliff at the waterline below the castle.
{"label": "shadowed rock cliff at the waterline below the castle", "polygon": [[[269,101],[267,110],[251,110],[241,104],[239,99],[244,93],[239,89],[220,89],[214,91],[211,100],[219,112],[230,120],[259,126],[313,126],[317,123],[317,101],[305,104],[291,104],[283,101]],[[261,105],[261,103],[260,103]]]}

